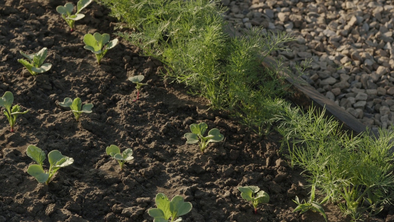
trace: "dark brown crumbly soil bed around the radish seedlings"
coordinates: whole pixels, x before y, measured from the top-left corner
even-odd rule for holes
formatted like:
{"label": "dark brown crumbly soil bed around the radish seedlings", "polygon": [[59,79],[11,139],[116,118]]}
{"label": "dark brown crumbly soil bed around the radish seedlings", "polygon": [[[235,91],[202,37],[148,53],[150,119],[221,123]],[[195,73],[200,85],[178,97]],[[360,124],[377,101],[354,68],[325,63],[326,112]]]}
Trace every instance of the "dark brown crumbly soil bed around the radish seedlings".
{"label": "dark brown crumbly soil bed around the radish seedlings", "polygon": [[[184,86],[165,84],[161,63],[139,56],[124,40],[97,65],[83,48],[83,36],[112,33],[116,21],[108,9],[92,3],[76,31],[69,32],[56,12],[65,3],[0,0],[0,96],[11,91],[14,104],[29,110],[18,117],[13,133],[0,117],[0,222],[148,222],[153,220],[147,210],[155,207],[158,192],[193,204],[183,216],[186,222],[323,221],[317,213],[292,213],[294,196],[304,198],[308,190],[300,171],[278,156],[278,135],[261,139],[226,113],[209,109],[208,101],[186,94]],[[19,51],[43,47],[52,69],[33,77],[17,62]],[[127,79],[141,74],[148,85],[133,102],[137,91]],[[93,113],[82,114],[79,122],[58,106],[77,96],[94,104]],[[183,137],[199,122],[225,135],[205,154]],[[33,163],[26,155],[31,144],[46,153],[57,149],[74,164],[60,169],[49,185],[40,184],[26,173]],[[134,151],[123,171],[105,153],[111,144]],[[259,186],[271,197],[258,214],[240,198],[237,187],[245,185]],[[325,209],[330,221],[348,221],[334,206]]]}

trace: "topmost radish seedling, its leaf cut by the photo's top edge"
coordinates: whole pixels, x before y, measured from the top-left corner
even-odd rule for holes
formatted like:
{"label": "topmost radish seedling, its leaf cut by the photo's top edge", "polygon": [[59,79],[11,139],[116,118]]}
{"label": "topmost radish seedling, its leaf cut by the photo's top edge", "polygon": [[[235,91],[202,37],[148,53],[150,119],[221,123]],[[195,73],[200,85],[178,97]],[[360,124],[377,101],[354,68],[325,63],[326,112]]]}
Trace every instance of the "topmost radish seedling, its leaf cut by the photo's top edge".
{"label": "topmost radish seedling, its leaf cut by the photo's top edge", "polygon": [[84,14],[80,14],[80,11],[88,6],[93,0],[79,0],[76,4],[76,13],[71,15],[74,10],[74,5],[71,2],[67,2],[64,6],[56,7],[56,11],[61,14],[61,17],[67,22],[71,28],[71,32],[74,31],[74,23],[77,20],[85,17]]}

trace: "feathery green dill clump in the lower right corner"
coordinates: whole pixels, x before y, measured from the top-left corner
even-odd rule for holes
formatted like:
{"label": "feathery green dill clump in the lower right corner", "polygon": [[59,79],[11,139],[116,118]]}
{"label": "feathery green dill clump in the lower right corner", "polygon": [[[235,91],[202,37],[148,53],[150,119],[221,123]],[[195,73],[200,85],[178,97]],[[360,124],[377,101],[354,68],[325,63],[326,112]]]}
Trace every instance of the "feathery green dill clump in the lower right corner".
{"label": "feathery green dill clump in the lower right corner", "polygon": [[[323,111],[287,107],[277,127],[283,135],[285,154],[299,166],[320,194],[353,221],[379,213],[394,200],[394,132],[380,129],[379,138],[369,132],[340,134],[340,124]],[[367,215],[366,215],[367,214]]]}

